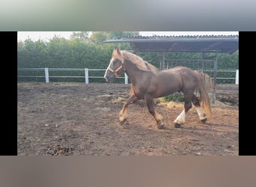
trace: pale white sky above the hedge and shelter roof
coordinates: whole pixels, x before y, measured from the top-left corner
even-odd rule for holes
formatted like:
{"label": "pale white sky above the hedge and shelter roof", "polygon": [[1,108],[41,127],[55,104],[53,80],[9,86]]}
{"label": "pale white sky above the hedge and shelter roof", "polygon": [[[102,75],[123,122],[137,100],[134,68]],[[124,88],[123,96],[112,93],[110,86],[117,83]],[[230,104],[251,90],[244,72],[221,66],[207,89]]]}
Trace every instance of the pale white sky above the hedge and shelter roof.
{"label": "pale white sky above the hedge and shelter roof", "polygon": [[[24,41],[28,37],[31,40],[49,40],[55,35],[69,39],[72,33],[73,31],[19,31],[18,41]],[[140,31],[139,34],[142,36],[238,35],[238,31]]]}

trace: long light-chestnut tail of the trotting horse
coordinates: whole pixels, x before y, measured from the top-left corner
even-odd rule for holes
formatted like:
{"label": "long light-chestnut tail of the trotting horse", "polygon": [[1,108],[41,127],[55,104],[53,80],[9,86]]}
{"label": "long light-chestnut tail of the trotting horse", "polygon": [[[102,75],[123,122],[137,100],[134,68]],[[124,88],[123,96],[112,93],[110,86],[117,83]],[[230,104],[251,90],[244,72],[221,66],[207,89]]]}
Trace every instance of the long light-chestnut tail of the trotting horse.
{"label": "long light-chestnut tail of the trotting horse", "polygon": [[208,95],[207,91],[204,89],[203,79],[199,79],[198,92],[200,94],[201,108],[204,108],[204,111],[206,112],[207,117],[209,118],[212,115],[212,110],[210,108],[210,96]]}

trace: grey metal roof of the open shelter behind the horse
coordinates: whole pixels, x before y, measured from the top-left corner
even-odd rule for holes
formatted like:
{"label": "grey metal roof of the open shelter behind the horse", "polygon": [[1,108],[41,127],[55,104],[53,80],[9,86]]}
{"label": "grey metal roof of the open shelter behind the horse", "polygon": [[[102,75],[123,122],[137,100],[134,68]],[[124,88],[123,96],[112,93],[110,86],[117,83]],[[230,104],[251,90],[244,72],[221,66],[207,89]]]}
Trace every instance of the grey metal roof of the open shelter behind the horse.
{"label": "grey metal roof of the open shelter behind the horse", "polygon": [[135,52],[221,52],[238,50],[238,35],[230,36],[132,36],[103,43],[129,43]]}

